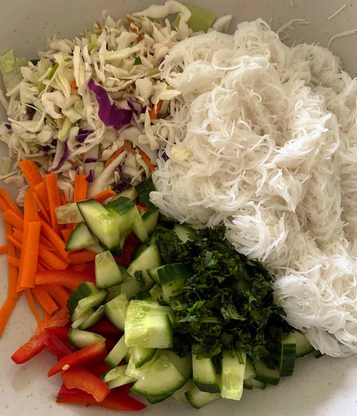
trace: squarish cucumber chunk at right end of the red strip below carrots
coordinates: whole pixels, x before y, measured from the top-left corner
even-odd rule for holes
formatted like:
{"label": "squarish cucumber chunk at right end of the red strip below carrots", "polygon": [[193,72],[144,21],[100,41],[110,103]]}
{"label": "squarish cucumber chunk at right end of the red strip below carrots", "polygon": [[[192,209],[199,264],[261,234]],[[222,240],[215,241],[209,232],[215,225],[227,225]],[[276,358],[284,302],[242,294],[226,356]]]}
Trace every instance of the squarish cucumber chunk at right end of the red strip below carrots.
{"label": "squarish cucumber chunk at right end of the red strip below carrots", "polygon": [[110,251],[95,256],[95,283],[100,289],[106,289],[123,282],[122,273]]}

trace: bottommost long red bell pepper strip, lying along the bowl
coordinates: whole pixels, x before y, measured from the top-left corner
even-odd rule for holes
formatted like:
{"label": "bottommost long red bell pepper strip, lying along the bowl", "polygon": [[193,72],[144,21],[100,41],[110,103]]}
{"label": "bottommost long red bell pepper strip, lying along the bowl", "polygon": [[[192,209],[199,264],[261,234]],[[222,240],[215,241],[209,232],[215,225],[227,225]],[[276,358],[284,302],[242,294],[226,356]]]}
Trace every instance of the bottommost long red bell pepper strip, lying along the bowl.
{"label": "bottommost long red bell pepper strip, lying along the bowl", "polygon": [[58,392],[56,402],[102,406],[113,410],[142,410],[146,407],[140,401],[122,394],[118,389],[113,389],[103,401],[96,401],[91,394],[79,389],[67,389],[64,384]]}

